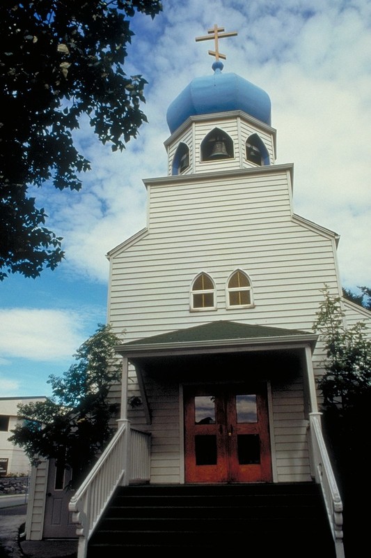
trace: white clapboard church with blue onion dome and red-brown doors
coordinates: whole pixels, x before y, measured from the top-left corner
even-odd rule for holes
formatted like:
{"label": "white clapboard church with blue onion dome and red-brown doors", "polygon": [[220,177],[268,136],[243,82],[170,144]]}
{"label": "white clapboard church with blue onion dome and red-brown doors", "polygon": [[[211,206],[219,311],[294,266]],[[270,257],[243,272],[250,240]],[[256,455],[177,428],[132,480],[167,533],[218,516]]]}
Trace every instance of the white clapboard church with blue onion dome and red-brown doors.
{"label": "white clapboard church with blue onion dome and red-brown doors", "polygon": [[[147,226],[108,254],[121,414],[70,502],[79,558],[257,538],[264,556],[344,557],[313,333],[324,285],[342,296],[338,235],[294,213],[270,98],[223,70],[219,39],[236,34],[223,31],[198,38],[215,40],[212,71],[168,107],[168,175],[144,180]],[[370,319],[343,305],[349,324]]]}

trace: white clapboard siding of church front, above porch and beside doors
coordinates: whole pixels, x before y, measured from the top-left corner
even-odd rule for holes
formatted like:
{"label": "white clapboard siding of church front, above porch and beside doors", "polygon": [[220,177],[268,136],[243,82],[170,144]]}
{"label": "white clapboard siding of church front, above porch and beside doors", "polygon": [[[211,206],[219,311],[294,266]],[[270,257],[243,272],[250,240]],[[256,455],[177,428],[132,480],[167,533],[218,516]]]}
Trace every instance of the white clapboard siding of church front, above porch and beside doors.
{"label": "white clapboard siding of church front, above porch and beside doors", "polygon": [[[197,141],[215,126],[235,133],[226,121],[203,122]],[[336,235],[293,215],[291,172],[277,165],[145,181],[148,231],[111,252],[109,322],[116,333],[126,329],[130,341],[221,319],[312,333],[324,283],[340,292]],[[235,269],[251,280],[252,308],[227,308]],[[191,285],[201,271],[214,280],[216,310],[190,311]],[[152,423],[140,408],[129,409],[129,418],[151,432],[151,482],[181,482],[179,386],[166,381],[165,389],[146,378],[145,387]],[[139,393],[135,382],[131,393]],[[301,378],[273,384],[271,397],[274,478],[310,481]]]}

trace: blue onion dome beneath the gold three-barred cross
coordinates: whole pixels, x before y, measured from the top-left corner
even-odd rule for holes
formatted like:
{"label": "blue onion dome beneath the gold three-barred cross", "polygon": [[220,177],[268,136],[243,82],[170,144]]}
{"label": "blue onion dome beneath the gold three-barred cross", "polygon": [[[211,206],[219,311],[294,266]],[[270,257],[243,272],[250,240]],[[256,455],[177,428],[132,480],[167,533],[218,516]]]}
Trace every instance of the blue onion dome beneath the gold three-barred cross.
{"label": "blue onion dome beneath the gold three-barred cross", "polygon": [[196,77],[168,107],[166,120],[173,133],[189,116],[242,110],[271,125],[271,100],[260,87],[235,73],[222,73],[223,63],[216,61],[214,74]]}

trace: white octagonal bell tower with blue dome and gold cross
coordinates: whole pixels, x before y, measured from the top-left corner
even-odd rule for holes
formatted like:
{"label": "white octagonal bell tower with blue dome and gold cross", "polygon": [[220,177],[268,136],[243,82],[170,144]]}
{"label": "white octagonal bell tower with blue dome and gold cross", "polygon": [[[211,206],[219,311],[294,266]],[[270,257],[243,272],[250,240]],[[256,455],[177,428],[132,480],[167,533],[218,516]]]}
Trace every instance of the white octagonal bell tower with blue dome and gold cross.
{"label": "white octagonal bell tower with blue dome and gold cross", "polygon": [[196,41],[214,39],[214,74],[198,77],[168,107],[168,174],[194,174],[273,165],[276,130],[265,91],[235,73],[223,73],[219,39],[235,36],[214,25]]}

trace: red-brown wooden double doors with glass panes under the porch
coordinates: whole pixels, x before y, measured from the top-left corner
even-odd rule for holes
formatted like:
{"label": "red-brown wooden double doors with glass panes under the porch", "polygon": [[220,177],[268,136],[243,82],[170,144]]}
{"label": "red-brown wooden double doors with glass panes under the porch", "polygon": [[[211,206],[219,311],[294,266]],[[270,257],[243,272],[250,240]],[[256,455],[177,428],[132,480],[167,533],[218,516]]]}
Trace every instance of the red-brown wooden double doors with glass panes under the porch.
{"label": "red-brown wooden double doors with glass panes under the porch", "polygon": [[184,388],[187,483],[271,481],[265,386]]}

